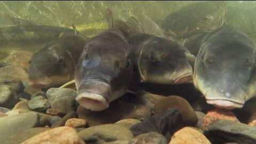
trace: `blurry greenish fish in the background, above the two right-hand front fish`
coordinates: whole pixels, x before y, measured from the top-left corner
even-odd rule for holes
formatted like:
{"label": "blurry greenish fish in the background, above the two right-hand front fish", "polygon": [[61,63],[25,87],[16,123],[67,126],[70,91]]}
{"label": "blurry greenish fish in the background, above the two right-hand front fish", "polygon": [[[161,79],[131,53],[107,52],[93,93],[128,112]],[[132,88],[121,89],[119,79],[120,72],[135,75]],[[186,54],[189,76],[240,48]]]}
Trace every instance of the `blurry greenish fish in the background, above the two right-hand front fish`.
{"label": "blurry greenish fish in the background, above the two right-hand front fish", "polygon": [[161,28],[173,31],[180,38],[210,32],[225,22],[227,7],[224,2],[198,2],[181,7],[164,19]]}

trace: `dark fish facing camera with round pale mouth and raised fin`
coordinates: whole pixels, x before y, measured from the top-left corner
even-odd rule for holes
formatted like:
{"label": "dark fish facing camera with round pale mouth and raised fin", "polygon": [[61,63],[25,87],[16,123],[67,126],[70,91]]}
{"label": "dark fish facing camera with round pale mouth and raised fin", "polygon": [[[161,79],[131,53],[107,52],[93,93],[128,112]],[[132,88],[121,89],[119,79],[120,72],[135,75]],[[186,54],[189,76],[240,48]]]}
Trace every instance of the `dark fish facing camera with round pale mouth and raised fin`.
{"label": "dark fish facing camera with round pale mouth and raised fin", "polygon": [[92,111],[107,109],[126,93],[133,70],[132,50],[122,30],[114,28],[110,9],[105,12],[109,29],[85,45],[75,70],[76,101]]}

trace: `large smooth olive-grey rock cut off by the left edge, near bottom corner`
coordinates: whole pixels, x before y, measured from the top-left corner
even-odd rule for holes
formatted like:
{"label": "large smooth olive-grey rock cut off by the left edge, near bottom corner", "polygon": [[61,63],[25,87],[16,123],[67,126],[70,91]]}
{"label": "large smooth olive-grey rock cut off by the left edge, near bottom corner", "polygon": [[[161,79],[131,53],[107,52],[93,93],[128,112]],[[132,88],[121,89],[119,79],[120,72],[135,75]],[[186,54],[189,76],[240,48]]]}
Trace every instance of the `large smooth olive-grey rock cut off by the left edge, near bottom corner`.
{"label": "large smooth olive-grey rock cut off by the left edge, near bottom corner", "polygon": [[0,118],[0,141],[10,137],[14,133],[22,132],[38,124],[38,114],[35,112],[22,113]]}

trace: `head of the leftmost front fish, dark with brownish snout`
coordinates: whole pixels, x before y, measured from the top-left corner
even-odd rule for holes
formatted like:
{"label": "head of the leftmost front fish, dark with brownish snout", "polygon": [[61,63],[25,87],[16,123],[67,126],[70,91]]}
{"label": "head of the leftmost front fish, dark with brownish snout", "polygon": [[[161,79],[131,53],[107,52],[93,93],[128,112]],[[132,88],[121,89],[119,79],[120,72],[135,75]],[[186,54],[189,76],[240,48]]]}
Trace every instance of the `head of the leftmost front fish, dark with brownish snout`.
{"label": "head of the leftmost front fish, dark with brownish snout", "polygon": [[30,85],[39,89],[58,86],[74,78],[76,63],[64,44],[45,46],[29,63]]}

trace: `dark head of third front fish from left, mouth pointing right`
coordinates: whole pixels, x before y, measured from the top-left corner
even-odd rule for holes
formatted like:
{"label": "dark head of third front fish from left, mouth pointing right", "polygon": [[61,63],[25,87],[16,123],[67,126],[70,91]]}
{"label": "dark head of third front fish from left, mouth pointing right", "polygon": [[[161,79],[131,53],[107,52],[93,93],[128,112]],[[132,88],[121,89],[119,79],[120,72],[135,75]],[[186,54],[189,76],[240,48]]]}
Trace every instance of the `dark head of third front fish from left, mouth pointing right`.
{"label": "dark head of third front fish from left, mouth pointing right", "polygon": [[189,62],[195,61],[195,57],[184,47],[160,37],[149,39],[141,46],[138,58],[141,82],[181,84],[192,81],[193,68]]}

